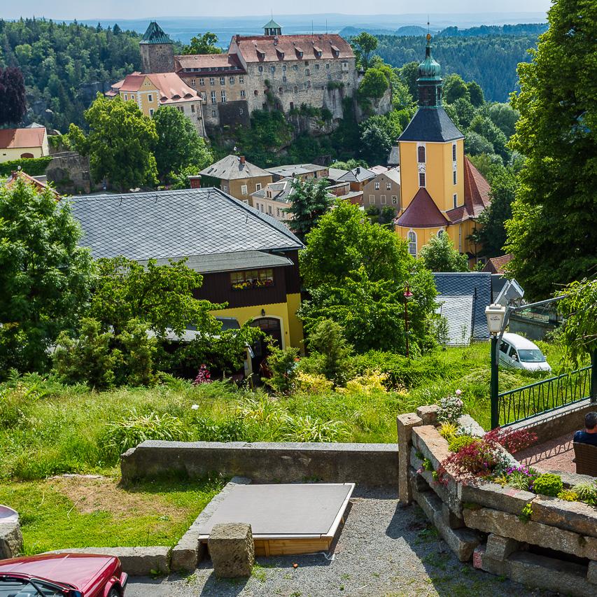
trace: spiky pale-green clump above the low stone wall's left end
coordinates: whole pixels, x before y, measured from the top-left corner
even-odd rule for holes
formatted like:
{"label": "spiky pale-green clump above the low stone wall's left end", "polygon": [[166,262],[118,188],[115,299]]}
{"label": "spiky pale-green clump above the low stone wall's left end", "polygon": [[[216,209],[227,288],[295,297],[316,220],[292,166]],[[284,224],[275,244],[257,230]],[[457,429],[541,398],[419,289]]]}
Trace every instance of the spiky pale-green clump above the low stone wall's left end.
{"label": "spiky pale-green clump above the low stone wall's left end", "polygon": [[118,457],[145,440],[184,442],[188,439],[188,430],[178,417],[156,412],[138,414],[136,409],[132,409],[127,418],[106,425],[104,449],[111,456]]}

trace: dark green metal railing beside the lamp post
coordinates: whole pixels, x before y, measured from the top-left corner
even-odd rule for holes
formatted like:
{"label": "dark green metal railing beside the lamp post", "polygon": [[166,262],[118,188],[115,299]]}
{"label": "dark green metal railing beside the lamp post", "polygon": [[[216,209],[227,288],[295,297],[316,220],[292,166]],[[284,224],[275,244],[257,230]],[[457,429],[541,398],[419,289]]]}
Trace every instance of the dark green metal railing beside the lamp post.
{"label": "dark green metal railing beside the lamp post", "polygon": [[499,393],[500,426],[512,425],[590,397],[591,365],[587,365],[570,373]]}

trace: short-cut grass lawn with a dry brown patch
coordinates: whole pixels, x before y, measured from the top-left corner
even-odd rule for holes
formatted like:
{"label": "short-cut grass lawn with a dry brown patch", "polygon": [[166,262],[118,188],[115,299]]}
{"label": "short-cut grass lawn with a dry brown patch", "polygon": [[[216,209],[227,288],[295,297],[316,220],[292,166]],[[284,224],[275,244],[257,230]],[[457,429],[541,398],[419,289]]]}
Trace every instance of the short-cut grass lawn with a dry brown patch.
{"label": "short-cut grass lawn with a dry brown patch", "polygon": [[73,547],[171,547],[222,485],[150,482],[123,489],[114,477],[56,477],[4,482],[0,503],[19,512],[27,555]]}

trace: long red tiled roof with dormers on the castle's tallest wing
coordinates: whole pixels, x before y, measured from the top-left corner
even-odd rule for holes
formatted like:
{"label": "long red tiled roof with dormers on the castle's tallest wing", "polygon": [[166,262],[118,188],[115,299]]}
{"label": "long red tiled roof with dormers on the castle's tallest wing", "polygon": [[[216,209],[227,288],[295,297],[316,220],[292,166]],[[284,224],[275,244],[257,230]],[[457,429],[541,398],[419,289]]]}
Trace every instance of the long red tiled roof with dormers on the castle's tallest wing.
{"label": "long red tiled roof with dormers on the castle's tallest wing", "polygon": [[[350,44],[338,34],[236,35],[236,43],[246,62],[284,62],[314,58],[354,58]],[[303,55],[300,55],[303,52]],[[317,52],[321,52],[321,56]]]}

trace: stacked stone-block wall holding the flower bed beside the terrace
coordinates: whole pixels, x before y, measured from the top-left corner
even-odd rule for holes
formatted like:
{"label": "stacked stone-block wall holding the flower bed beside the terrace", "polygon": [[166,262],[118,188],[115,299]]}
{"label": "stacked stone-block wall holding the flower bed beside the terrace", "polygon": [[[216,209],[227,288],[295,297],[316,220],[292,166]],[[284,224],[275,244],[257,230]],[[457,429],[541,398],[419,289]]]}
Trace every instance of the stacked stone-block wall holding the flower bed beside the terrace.
{"label": "stacked stone-block wall holding the flower bed beside the terrace", "polygon": [[398,416],[400,500],[416,501],[461,561],[532,587],[597,594],[597,508],[481,480],[434,479],[423,459],[437,471],[450,454],[436,412],[424,407]]}

